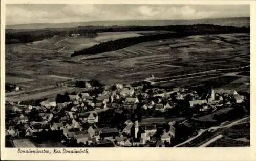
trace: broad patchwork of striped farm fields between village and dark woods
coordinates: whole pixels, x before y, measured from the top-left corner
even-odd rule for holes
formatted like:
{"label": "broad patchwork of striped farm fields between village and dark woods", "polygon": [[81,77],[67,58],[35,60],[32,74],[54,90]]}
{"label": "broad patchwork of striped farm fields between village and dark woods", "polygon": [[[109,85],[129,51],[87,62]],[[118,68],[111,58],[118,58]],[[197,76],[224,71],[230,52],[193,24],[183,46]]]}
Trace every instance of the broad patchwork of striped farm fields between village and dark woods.
{"label": "broad patchwork of striped farm fields between village and dark woods", "polygon": [[[123,34],[127,37],[140,33],[143,31],[99,33],[99,37],[107,40],[111,36],[121,38]],[[99,42],[93,38],[55,36],[32,44],[6,45],[6,80],[26,91],[77,78],[97,79],[110,85],[143,81],[154,75],[151,81],[166,87],[211,83],[214,88],[249,91],[249,38],[249,33],[188,36],[148,41],[97,55],[69,57],[71,50]]]}

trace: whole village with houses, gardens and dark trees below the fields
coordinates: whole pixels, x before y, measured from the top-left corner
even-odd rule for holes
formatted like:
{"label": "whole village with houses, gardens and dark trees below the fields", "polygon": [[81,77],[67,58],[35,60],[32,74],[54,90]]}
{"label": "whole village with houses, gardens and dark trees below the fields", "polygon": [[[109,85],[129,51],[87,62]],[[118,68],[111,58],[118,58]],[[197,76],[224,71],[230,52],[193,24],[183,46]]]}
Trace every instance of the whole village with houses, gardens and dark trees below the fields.
{"label": "whole village with houses, gardens and dark trees below the fields", "polygon": [[[60,147],[172,147],[176,128],[189,117],[244,99],[237,91],[212,87],[199,95],[189,88],[115,84],[98,93],[58,94],[38,106],[6,102],[12,109],[6,117],[6,140],[16,147],[40,147],[45,142],[58,142]],[[181,116],[184,119],[175,119]],[[170,121],[154,121],[163,117]],[[153,121],[143,121],[148,118]]]}

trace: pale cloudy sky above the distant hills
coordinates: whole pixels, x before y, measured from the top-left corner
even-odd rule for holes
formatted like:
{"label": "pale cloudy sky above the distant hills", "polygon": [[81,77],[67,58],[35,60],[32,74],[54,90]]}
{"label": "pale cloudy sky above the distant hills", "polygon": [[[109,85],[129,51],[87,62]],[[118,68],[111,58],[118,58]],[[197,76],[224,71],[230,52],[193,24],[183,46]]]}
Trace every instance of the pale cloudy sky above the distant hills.
{"label": "pale cloudy sky above the distant hills", "polygon": [[249,5],[7,4],[6,24],[250,16]]}

